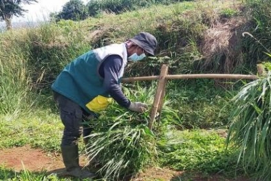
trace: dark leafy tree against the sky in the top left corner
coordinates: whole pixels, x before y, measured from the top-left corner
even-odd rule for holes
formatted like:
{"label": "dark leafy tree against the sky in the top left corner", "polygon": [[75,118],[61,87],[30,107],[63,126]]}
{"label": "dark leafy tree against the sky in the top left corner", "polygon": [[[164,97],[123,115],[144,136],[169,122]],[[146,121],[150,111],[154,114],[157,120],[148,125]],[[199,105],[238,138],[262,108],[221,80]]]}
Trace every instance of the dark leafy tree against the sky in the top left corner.
{"label": "dark leafy tree against the sky in the top left corner", "polygon": [[8,30],[12,28],[11,20],[13,16],[23,16],[24,12],[28,12],[21,7],[22,4],[30,4],[37,2],[36,0],[0,0],[0,21],[6,22]]}

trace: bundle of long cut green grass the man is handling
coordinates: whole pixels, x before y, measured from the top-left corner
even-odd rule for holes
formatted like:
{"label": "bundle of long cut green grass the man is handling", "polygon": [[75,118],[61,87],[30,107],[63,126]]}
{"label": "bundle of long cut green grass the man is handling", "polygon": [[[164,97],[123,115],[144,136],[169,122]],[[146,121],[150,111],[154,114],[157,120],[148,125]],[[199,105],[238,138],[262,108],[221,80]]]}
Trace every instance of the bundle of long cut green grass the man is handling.
{"label": "bundle of long cut green grass the man is handling", "polygon": [[[138,92],[130,92],[129,98],[151,103],[155,88],[138,88]],[[167,112],[171,112],[170,109],[165,109],[162,115],[170,119]],[[94,162],[98,164],[97,173],[102,178],[121,180],[155,163],[157,136],[147,127],[148,121],[148,111],[138,114],[117,104],[111,105],[107,114],[97,120],[90,120],[94,131],[85,137],[89,138],[85,151],[90,166]]]}

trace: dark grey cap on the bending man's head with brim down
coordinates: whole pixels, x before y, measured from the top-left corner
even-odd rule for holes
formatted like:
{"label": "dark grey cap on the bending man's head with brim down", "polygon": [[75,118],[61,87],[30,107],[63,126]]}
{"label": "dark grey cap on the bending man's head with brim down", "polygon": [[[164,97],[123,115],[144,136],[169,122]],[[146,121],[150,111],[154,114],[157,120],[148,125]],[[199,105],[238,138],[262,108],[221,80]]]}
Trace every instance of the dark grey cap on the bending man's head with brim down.
{"label": "dark grey cap on the bending man's head with brim down", "polygon": [[136,45],[142,47],[146,52],[154,56],[154,50],[157,47],[157,40],[152,34],[148,32],[140,32],[139,34],[135,35],[133,39],[129,39],[133,41]]}

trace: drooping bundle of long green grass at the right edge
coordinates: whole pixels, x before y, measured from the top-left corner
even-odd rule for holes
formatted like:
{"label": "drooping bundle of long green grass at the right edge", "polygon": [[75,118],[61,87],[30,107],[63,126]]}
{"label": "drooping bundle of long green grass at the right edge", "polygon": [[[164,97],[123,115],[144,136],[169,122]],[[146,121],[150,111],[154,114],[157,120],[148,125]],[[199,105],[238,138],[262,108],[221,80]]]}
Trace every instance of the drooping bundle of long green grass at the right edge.
{"label": "drooping bundle of long green grass at the right edge", "polygon": [[227,144],[239,149],[238,162],[260,180],[271,178],[271,72],[235,96]]}

